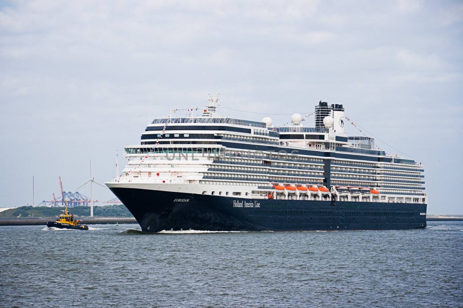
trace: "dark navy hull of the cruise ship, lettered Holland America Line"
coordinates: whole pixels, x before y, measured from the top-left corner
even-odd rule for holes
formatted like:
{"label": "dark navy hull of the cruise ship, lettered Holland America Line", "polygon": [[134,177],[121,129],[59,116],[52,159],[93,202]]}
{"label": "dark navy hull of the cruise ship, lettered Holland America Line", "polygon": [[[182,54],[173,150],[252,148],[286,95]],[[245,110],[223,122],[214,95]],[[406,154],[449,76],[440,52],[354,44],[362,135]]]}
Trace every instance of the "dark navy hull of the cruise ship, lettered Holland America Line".
{"label": "dark navy hull of the cruise ship, lettered Holland America Line", "polygon": [[143,231],[385,230],[426,227],[425,204],[247,199],[112,187]]}

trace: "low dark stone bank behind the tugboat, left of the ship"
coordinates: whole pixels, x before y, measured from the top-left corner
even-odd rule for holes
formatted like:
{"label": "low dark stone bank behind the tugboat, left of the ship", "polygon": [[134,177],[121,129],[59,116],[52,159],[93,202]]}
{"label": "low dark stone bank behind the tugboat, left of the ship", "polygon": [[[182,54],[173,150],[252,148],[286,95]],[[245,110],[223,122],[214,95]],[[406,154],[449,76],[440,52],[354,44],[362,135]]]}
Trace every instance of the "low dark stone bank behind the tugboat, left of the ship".
{"label": "low dark stone bank behind the tugboat, left of the ship", "polygon": [[[78,219],[81,219],[83,224],[137,223],[133,217],[78,217]],[[0,218],[0,226],[37,226],[55,220],[56,217]]]}

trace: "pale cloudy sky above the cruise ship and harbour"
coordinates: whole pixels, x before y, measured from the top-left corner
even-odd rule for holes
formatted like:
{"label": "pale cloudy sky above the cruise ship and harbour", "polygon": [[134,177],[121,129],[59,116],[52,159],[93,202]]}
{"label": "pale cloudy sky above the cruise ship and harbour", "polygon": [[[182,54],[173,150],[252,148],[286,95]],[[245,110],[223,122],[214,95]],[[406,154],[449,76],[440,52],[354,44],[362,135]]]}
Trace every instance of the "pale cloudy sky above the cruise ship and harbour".
{"label": "pale cloudy sky above the cruise ship and harbour", "polygon": [[110,181],[150,119],[220,93],[275,125],[343,104],[425,164],[428,214],[463,214],[462,47],[462,1],[0,1],[0,207],[32,204],[32,176],[35,204],[75,191],[90,160]]}

